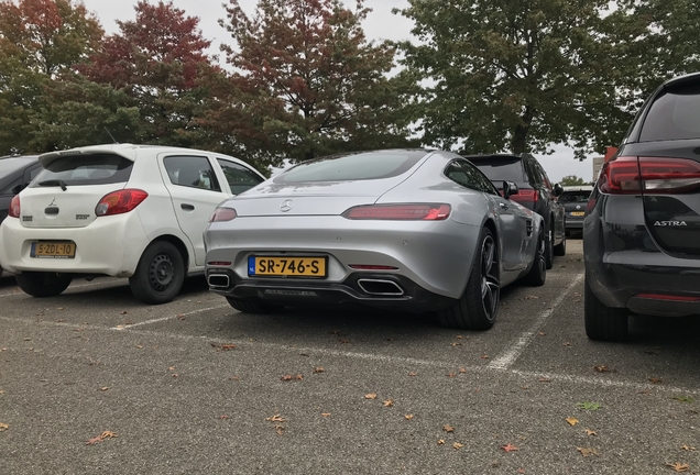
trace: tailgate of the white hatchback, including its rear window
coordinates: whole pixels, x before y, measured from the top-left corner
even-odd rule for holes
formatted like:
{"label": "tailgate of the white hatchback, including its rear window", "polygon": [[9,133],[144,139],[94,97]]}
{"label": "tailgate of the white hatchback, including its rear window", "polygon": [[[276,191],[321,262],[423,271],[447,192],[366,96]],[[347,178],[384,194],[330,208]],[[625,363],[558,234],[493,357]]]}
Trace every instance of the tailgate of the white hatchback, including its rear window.
{"label": "tailgate of the white hatchback, including its rear window", "polygon": [[112,153],[46,154],[44,167],[20,195],[24,228],[84,228],[100,199],[125,187],[133,162]]}

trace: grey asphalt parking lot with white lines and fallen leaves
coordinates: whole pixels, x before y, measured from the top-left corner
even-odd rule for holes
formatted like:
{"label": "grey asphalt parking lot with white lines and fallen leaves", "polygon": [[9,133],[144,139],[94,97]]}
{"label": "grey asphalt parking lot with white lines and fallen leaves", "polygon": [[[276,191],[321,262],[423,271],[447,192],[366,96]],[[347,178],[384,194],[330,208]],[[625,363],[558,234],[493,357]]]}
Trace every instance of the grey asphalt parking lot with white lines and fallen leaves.
{"label": "grey asphalt parking lot with white lines and fallen leaves", "polygon": [[2,474],[700,473],[700,322],[583,330],[581,242],[494,328],[343,309],[240,313],[190,278],[62,296],[0,278]]}

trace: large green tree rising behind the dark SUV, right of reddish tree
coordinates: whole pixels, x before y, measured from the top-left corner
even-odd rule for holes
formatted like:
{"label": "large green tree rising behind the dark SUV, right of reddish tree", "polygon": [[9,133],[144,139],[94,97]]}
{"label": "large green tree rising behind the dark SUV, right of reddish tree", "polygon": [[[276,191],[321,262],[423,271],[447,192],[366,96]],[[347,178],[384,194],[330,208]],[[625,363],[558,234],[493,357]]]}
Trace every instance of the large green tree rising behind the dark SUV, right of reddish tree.
{"label": "large green tree rising behind the dark SUV, right of reddish tree", "polygon": [[606,0],[409,3],[401,13],[415,22],[418,42],[401,46],[427,84],[417,118],[425,143],[549,153],[573,141],[580,158],[620,140],[631,111],[619,107],[612,57],[620,48],[604,35],[621,21],[637,31],[630,12],[605,21]]}

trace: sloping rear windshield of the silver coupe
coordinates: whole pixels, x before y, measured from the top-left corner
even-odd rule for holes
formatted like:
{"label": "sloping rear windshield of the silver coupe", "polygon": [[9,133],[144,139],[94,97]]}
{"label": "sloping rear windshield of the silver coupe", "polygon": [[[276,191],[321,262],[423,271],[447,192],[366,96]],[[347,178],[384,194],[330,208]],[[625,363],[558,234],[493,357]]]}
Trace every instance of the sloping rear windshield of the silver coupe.
{"label": "sloping rear windshield of the silver coupe", "polygon": [[398,176],[411,169],[426,151],[362,152],[304,162],[274,178],[275,183],[370,180]]}

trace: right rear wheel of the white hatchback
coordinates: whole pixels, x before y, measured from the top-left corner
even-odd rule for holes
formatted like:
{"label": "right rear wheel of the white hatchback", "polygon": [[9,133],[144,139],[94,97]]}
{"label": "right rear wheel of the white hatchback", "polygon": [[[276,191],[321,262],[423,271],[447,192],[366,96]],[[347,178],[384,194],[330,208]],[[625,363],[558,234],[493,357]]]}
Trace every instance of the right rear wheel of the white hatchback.
{"label": "right rear wheel of the white hatchback", "polygon": [[160,305],[173,300],[184,281],[185,262],[177,247],[166,241],[156,241],[141,255],[129,286],[142,302]]}

